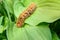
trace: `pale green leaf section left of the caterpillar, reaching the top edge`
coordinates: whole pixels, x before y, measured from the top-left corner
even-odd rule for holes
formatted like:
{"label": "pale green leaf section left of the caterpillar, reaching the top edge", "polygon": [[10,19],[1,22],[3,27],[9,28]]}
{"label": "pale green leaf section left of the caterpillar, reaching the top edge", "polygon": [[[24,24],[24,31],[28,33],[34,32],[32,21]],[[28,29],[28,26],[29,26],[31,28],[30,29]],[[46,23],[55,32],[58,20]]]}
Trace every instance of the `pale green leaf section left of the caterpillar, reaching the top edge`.
{"label": "pale green leaf section left of the caterpillar, reaching the top edge", "polygon": [[17,0],[17,1],[15,0],[14,1],[14,6],[13,6],[14,7],[14,14],[17,18],[22,13],[22,11],[25,10],[25,7],[22,2],[23,2],[22,0]]}

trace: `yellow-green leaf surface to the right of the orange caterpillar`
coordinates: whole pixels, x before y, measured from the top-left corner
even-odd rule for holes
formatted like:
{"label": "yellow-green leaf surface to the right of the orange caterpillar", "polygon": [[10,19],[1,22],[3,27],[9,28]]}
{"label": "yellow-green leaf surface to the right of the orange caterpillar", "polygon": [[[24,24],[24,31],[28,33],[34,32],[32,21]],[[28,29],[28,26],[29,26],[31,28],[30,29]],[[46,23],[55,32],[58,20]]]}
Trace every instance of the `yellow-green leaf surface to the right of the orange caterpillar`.
{"label": "yellow-green leaf surface to the right of the orange caterpillar", "polygon": [[[37,0],[36,3],[38,3]],[[42,1],[40,4],[37,4],[37,9],[33,15],[26,19],[25,23],[28,23],[30,25],[37,25],[41,22],[52,23],[58,20],[60,18],[59,5],[59,0]]]}

